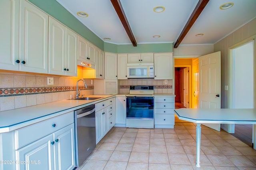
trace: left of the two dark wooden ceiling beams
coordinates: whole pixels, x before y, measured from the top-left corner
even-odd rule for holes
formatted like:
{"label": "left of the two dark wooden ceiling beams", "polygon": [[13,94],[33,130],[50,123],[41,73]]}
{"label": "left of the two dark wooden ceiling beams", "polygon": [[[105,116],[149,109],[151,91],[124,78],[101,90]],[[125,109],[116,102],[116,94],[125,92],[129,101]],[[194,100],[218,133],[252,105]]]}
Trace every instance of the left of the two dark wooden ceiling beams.
{"label": "left of the two dark wooden ceiling beams", "polygon": [[124,14],[124,10],[122,8],[120,0],[110,0],[110,1],[112,2],[112,5],[114,6],[118,17],[119,17],[120,21],[122,22],[122,24],[124,26],[124,29],[125,29],[128,37],[130,38],[131,42],[132,42],[132,45],[134,47],[137,47],[137,42],[134,38],[134,35],[132,33],[132,29],[131,29],[128,21],[127,21],[127,18]]}

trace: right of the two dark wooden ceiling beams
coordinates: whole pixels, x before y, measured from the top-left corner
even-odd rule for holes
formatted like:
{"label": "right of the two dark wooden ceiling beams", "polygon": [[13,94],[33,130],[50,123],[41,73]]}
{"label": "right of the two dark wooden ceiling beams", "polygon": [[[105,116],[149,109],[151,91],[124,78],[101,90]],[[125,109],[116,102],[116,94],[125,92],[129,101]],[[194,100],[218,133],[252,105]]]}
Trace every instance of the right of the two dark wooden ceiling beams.
{"label": "right of the two dark wooden ceiling beams", "polygon": [[188,31],[190,30],[190,28],[194,24],[194,22],[196,21],[198,16],[204,10],[204,7],[207,5],[208,2],[209,2],[209,0],[199,0],[199,2],[196,5],[196,8],[192,12],[192,14],[191,14],[190,18],[188,19],[185,27],[183,28],[182,32],[180,33],[180,36],[178,37],[176,43],[174,44],[174,48],[178,48],[181,41],[184,39],[184,37],[186,36]]}

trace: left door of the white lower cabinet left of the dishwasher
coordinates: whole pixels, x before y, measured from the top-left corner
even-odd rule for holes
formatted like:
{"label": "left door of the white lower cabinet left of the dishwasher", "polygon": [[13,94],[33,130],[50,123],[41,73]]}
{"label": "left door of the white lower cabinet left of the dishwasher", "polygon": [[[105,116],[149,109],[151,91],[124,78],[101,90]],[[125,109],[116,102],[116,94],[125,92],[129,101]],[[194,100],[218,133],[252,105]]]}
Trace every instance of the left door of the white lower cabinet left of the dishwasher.
{"label": "left door of the white lower cabinet left of the dishwasher", "polygon": [[19,170],[53,170],[54,169],[54,144],[53,134],[16,150],[16,159],[25,163],[16,163]]}

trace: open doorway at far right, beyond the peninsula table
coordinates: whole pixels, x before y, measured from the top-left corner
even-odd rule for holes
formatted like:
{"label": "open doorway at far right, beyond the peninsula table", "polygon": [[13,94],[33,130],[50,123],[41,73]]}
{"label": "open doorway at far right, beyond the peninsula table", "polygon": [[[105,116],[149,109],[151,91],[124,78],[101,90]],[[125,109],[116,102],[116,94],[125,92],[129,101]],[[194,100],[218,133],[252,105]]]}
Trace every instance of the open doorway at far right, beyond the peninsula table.
{"label": "open doorway at far right, beyond the peninsula table", "polygon": [[[229,49],[229,108],[254,108],[254,39]],[[228,132],[253,147],[253,125],[229,125]]]}

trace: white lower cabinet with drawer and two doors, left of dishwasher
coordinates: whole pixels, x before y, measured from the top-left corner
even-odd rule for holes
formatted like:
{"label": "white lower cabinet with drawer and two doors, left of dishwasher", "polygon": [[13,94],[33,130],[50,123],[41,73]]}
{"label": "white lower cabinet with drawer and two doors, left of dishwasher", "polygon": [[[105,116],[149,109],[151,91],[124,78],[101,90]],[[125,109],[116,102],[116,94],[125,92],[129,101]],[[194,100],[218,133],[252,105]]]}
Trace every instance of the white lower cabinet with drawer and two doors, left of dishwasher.
{"label": "white lower cabinet with drawer and two doors, left of dishwasher", "polygon": [[[50,134],[48,126],[53,131]],[[38,138],[37,134],[46,133]],[[72,170],[75,167],[74,112],[17,129],[14,141],[17,170]]]}

